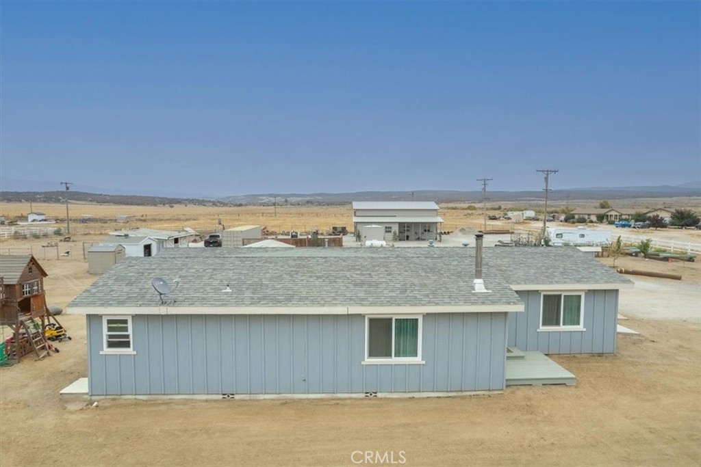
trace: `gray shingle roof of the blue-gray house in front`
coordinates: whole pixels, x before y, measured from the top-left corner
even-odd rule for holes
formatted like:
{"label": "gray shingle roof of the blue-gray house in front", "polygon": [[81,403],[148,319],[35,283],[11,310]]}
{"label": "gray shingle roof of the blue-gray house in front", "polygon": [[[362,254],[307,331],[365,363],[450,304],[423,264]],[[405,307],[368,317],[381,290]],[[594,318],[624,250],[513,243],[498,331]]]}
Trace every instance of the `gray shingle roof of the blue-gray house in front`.
{"label": "gray shingle roof of the blue-gray house in front", "polygon": [[475,249],[166,249],[125,258],[69,306],[157,306],[153,277],[180,279],[175,307],[506,305],[521,303],[510,284],[629,282],[574,248],[484,252],[491,293],[472,292]]}

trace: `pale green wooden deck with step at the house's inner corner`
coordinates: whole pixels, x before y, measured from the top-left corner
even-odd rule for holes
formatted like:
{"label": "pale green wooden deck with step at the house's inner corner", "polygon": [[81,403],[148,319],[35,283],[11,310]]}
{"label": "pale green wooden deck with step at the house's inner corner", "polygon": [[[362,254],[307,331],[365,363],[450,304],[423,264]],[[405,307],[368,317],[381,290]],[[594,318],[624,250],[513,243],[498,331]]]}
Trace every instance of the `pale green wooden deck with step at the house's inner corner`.
{"label": "pale green wooden deck with step at the house's inner corner", "polygon": [[510,347],[506,354],[506,385],[567,384],[576,377],[538,351],[521,351]]}

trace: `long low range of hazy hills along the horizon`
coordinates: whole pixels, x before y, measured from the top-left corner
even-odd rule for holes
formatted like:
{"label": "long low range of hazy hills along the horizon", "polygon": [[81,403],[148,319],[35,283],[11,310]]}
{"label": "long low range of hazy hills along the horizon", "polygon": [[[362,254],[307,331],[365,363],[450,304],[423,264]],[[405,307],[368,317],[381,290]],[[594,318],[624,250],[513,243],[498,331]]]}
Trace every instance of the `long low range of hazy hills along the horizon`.
{"label": "long low range of hazy hills along the horizon", "polygon": [[[4,202],[64,202],[64,190],[57,190],[57,182],[22,181],[0,177],[0,201]],[[60,185],[59,185],[60,186]],[[48,189],[50,188],[50,189]],[[195,197],[182,193],[114,193],[92,186],[72,185],[69,200],[101,204],[163,205],[198,204],[226,205],[299,205],[299,204],[350,204],[352,201],[435,201],[469,202],[482,200],[481,191],[415,190],[411,191],[360,191],[354,193],[262,193],[256,195],[226,196],[218,199]],[[550,200],[620,200],[627,198],[697,197],[701,196],[701,181],[676,186],[623,186],[591,187],[552,190]],[[543,191],[488,191],[491,202],[528,202],[542,200]]]}

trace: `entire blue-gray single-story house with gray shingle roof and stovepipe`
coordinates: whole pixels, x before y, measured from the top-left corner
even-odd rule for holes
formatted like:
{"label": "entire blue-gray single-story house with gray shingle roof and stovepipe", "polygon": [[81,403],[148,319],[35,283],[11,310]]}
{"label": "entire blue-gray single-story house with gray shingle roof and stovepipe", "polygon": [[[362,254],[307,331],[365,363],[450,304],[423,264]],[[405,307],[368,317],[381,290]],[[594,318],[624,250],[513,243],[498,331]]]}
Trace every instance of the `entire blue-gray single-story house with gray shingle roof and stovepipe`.
{"label": "entire blue-gray single-story house with gray shingle roof and stovepipe", "polygon": [[86,315],[90,396],[503,391],[508,347],[615,351],[628,279],[571,247],[482,251],[168,249],[67,312]]}

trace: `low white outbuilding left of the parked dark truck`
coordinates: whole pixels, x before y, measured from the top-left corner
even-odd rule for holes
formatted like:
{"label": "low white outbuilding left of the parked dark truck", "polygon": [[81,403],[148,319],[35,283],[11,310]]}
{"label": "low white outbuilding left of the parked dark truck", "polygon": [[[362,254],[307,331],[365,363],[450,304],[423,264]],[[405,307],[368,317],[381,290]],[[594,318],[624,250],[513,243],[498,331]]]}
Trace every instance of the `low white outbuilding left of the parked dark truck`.
{"label": "low white outbuilding left of the parked dark truck", "polygon": [[198,238],[198,233],[192,229],[181,231],[132,229],[109,232],[102,244],[122,245],[126,256],[155,256],[165,248],[188,246],[189,242]]}

